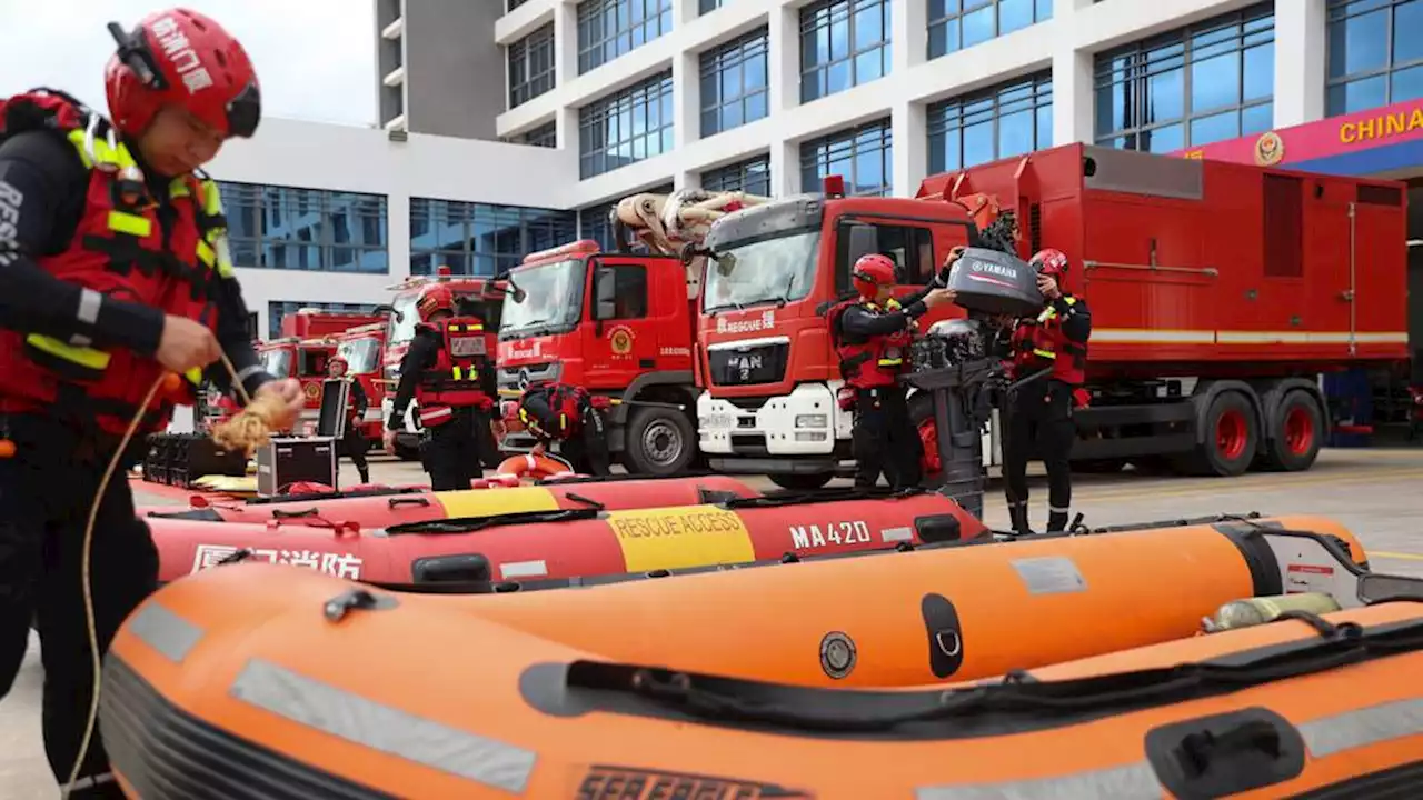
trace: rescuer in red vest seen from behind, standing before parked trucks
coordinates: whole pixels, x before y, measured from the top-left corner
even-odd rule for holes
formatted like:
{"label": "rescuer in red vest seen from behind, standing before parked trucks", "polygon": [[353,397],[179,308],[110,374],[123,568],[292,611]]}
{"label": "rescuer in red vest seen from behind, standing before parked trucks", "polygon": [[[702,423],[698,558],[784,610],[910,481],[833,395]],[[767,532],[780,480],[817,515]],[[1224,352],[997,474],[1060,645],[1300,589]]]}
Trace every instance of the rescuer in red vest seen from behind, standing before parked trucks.
{"label": "rescuer in red vest seen from behind, standing before parked trucks", "polygon": [[499,448],[490,428],[494,409],[494,362],[488,332],[477,316],[455,315],[455,298],[444,283],[427,286],[416,300],[420,325],[400,362],[400,386],[386,421],[386,450],[406,427],[406,409],[418,406],[420,457],[435,491],[470,488],[470,481],[497,467]]}

